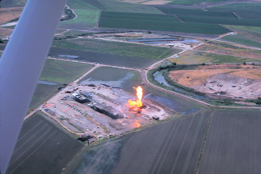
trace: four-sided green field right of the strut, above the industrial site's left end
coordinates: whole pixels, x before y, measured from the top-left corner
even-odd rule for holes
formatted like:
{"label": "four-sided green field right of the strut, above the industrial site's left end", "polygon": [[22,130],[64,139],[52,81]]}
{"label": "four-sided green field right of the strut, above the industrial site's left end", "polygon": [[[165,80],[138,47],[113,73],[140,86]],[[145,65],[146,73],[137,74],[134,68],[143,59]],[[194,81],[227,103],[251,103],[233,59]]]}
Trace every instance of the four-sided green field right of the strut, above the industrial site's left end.
{"label": "four-sided green field right of the strut, above the industrial site's left end", "polygon": [[90,64],[46,59],[40,79],[69,83],[91,68]]}

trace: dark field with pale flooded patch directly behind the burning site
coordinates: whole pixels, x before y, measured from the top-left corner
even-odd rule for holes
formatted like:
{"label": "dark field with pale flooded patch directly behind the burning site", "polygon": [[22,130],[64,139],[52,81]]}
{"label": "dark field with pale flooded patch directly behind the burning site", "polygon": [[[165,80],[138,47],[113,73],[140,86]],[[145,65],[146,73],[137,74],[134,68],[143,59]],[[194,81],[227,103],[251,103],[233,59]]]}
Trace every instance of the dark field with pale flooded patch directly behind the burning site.
{"label": "dark field with pale flooded patch directly behind the burning site", "polygon": [[127,88],[138,86],[142,83],[142,79],[139,71],[99,67],[93,70],[90,74],[83,77],[80,84],[99,85],[101,83],[109,85],[111,87]]}

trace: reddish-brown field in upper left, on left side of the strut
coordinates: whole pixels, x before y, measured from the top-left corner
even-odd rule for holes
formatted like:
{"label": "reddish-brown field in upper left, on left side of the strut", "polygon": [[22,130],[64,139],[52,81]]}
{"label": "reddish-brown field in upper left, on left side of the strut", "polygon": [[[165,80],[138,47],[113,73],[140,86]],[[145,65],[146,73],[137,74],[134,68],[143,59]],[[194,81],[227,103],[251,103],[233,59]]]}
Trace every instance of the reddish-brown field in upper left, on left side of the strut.
{"label": "reddish-brown field in upper left, on left side of the strut", "polygon": [[1,8],[0,24],[12,22],[17,19],[23,11],[23,7]]}

